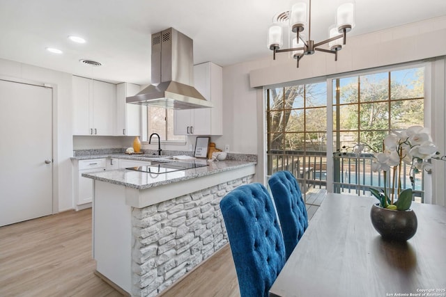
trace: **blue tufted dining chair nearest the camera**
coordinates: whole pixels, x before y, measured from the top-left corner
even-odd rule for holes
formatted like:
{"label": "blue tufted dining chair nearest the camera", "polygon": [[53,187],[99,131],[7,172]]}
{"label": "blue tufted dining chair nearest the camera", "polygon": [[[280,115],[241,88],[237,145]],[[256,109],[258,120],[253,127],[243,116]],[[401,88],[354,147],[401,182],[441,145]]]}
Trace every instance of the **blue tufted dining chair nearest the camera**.
{"label": "blue tufted dining chair nearest the camera", "polygon": [[259,183],[238,186],[220,202],[241,297],[268,296],[285,264],[274,204]]}

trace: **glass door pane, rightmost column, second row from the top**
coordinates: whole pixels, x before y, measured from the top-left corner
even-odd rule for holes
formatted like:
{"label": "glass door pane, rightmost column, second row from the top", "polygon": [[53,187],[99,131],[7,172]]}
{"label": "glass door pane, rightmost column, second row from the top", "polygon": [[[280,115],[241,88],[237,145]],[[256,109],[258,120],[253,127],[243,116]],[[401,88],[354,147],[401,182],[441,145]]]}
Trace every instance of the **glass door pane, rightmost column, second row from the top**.
{"label": "glass door pane, rightmost column, second row from the top", "polygon": [[423,126],[424,104],[422,99],[392,101],[390,104],[391,129]]}

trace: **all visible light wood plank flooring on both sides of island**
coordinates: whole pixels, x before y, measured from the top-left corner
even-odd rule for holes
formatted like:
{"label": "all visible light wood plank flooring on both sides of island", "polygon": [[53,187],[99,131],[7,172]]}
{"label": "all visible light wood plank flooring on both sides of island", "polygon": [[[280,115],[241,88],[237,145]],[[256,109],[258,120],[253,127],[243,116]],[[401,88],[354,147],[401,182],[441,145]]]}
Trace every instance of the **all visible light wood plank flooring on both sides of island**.
{"label": "all visible light wood plank flooring on both sides of island", "polygon": [[[323,191],[314,192],[319,202]],[[307,205],[309,219],[317,208]],[[121,296],[93,271],[91,209],[0,227],[1,297]],[[171,296],[240,296],[229,244],[162,294]]]}

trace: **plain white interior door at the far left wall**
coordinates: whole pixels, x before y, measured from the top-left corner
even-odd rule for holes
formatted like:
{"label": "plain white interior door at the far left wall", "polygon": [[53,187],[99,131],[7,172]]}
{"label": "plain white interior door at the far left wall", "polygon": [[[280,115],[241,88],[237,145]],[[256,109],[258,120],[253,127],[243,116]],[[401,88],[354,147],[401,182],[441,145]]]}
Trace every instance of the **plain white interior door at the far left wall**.
{"label": "plain white interior door at the far left wall", "polygon": [[52,89],[0,80],[0,226],[52,204]]}

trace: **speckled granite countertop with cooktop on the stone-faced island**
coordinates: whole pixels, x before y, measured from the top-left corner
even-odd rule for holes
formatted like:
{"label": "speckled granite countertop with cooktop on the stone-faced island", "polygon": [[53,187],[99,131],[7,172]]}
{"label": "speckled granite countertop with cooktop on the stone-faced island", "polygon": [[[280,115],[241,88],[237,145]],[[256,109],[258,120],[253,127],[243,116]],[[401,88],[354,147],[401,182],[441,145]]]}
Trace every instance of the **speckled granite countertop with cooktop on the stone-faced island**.
{"label": "speckled granite countertop with cooktop on the stone-faced island", "polygon": [[[121,157],[121,155],[119,157]],[[138,157],[132,155],[132,159],[137,159],[137,158]],[[85,159],[91,159],[91,157]],[[144,157],[141,157],[141,159],[147,160],[147,158]],[[206,175],[213,175],[219,172],[236,170],[238,168],[256,165],[255,161],[206,161],[204,159],[196,161],[207,162],[208,166],[187,169],[187,170],[179,170],[162,174],[151,174],[135,170],[118,169],[118,170],[108,170],[101,172],[83,173],[82,176],[100,180],[102,182],[109,182],[111,184],[118,184],[129,188],[144,190],[146,188],[151,188],[154,186],[171,184],[174,182],[181,182],[187,179],[194,179]]]}

